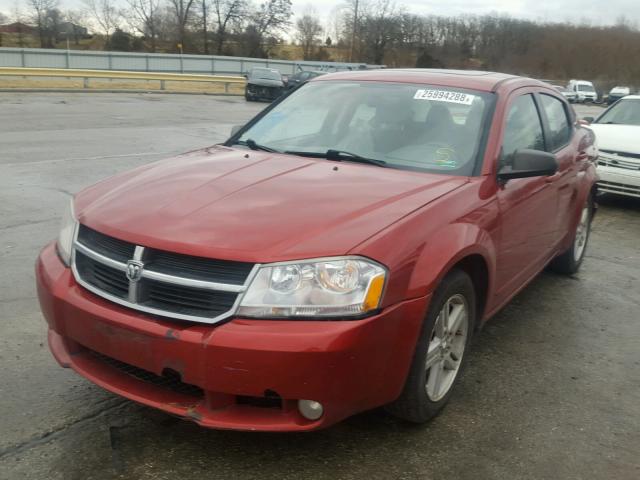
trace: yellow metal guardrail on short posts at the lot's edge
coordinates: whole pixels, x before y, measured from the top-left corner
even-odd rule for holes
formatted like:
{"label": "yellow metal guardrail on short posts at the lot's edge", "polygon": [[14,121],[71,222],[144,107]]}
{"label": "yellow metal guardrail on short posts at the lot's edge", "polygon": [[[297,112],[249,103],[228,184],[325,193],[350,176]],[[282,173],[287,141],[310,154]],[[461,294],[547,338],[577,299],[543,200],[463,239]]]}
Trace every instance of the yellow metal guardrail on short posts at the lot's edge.
{"label": "yellow metal guardrail on short posts at the lot's edge", "polygon": [[128,72],[115,70],[77,70],[65,68],[12,68],[0,67],[0,76],[12,77],[58,77],[82,78],[84,88],[89,88],[89,79],[108,78],[118,80],[151,80],[160,82],[160,90],[166,89],[165,82],[206,82],[224,84],[224,92],[229,93],[229,85],[246,83],[244,77],[223,75],[195,75],[183,73]]}

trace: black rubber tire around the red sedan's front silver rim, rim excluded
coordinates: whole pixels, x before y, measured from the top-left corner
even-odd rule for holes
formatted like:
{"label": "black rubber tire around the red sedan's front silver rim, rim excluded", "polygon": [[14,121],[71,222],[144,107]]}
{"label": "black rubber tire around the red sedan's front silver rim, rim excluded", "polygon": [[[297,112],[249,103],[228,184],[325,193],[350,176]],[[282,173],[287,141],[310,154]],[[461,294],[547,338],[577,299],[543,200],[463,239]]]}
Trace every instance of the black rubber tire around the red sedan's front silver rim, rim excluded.
{"label": "black rubber tire around the red sedan's front silver rim, rim excluded", "polygon": [[[467,333],[464,339],[464,350],[462,352],[460,366],[453,377],[453,382],[448,387],[444,396],[437,399],[437,401],[433,401],[427,394],[428,375],[431,374],[426,365],[427,352],[429,344],[433,340],[434,328],[440,311],[444,308],[448,300],[459,296],[464,297],[467,306]],[[469,275],[462,270],[452,270],[442,280],[433,295],[429,311],[422,324],[422,330],[418,338],[413,361],[411,362],[403,391],[396,401],[386,406],[389,413],[413,423],[424,423],[440,413],[449,401],[466,364],[469,345],[476,323],[475,320],[476,297],[473,282]]]}

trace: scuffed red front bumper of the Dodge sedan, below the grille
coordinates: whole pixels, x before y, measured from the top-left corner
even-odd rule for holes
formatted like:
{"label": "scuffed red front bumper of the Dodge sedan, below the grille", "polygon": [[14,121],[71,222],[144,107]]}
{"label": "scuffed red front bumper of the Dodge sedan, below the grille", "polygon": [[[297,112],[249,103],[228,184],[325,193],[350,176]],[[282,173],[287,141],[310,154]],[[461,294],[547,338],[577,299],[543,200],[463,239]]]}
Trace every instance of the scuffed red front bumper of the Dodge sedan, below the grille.
{"label": "scuffed red front bumper of the Dodge sedan, below the grille", "polygon": [[[363,320],[236,318],[212,326],[148,316],[93,295],[54,245],[40,254],[36,279],[49,346],[63,367],[202,426],[238,430],[313,430],[393,401],[429,300]],[[173,381],[162,381],[168,373]],[[278,405],[261,402],[274,394]],[[299,399],[321,402],[323,416],[302,417]]]}

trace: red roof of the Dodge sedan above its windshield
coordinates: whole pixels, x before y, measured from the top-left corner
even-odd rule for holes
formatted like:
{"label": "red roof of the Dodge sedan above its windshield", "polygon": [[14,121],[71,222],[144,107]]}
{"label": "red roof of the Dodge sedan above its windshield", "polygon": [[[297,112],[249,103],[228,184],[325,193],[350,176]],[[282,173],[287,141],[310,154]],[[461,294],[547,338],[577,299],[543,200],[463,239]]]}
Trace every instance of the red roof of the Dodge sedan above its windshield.
{"label": "red roof of the Dodge sedan above its windshield", "polygon": [[457,88],[469,88],[484,92],[495,92],[503,86],[509,90],[537,86],[551,88],[539,80],[519,77],[506,73],[483,72],[478,70],[442,70],[429,68],[377,69],[336,72],[316,77],[312,82],[328,82],[332,80],[356,80],[394,83],[424,83]]}

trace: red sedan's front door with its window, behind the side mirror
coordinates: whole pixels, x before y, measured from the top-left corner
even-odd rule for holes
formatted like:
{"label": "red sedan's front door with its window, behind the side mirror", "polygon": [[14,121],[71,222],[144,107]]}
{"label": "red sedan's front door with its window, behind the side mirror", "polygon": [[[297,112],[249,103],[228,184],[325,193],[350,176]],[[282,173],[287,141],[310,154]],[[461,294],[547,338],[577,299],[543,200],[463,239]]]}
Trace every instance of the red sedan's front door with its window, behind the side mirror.
{"label": "red sedan's front door with its window, behind the side mirror", "polygon": [[[518,93],[519,92],[519,93]],[[518,150],[546,150],[534,90],[516,91],[509,99],[500,166]],[[497,193],[502,218],[496,266],[496,300],[501,302],[541,270],[556,237],[557,191],[547,177],[509,180]]]}

